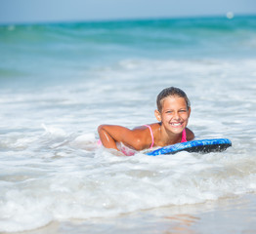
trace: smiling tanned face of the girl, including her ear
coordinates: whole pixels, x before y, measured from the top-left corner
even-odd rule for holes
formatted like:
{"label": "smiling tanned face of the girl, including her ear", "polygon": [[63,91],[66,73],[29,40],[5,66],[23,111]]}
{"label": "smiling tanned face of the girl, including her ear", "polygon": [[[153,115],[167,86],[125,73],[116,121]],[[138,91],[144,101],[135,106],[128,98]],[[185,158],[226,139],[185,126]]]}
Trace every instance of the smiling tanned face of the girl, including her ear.
{"label": "smiling tanned face of the girl, including her ear", "polygon": [[155,111],[155,117],[162,123],[167,131],[181,134],[186,128],[191,115],[185,98],[170,96],[162,101],[162,111]]}

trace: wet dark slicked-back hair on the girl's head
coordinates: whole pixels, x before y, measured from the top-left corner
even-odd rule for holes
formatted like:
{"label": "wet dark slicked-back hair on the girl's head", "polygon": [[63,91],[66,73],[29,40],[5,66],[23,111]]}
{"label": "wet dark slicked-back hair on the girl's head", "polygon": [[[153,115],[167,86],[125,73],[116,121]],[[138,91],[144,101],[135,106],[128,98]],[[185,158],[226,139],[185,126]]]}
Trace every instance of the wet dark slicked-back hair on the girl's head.
{"label": "wet dark slicked-back hair on the girl's head", "polygon": [[166,88],[166,89],[162,90],[156,98],[157,109],[160,113],[162,111],[162,101],[163,101],[163,99],[167,98],[167,97],[170,97],[170,96],[185,98],[188,109],[191,108],[191,101],[187,97],[187,95],[185,94],[184,91],[182,91],[179,88],[169,87],[169,88]]}

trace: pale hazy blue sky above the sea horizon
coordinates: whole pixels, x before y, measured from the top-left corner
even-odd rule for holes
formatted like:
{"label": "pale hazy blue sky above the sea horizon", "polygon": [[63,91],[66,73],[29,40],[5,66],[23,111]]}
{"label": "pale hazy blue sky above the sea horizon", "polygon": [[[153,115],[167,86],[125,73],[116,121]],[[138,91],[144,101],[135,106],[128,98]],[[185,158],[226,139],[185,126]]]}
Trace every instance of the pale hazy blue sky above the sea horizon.
{"label": "pale hazy blue sky above the sea horizon", "polygon": [[0,0],[0,23],[256,15],[256,0]]}

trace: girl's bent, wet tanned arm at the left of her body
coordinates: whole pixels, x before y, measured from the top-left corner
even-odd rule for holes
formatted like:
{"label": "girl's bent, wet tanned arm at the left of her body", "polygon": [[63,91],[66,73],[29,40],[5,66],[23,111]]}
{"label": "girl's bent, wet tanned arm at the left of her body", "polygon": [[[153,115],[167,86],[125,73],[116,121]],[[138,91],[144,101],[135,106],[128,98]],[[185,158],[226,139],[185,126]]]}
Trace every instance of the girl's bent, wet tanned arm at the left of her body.
{"label": "girl's bent, wet tanned arm at the left of her body", "polygon": [[140,130],[129,130],[117,125],[101,125],[98,128],[98,133],[106,148],[118,150],[116,147],[116,142],[118,141],[123,142],[136,150],[143,149]]}

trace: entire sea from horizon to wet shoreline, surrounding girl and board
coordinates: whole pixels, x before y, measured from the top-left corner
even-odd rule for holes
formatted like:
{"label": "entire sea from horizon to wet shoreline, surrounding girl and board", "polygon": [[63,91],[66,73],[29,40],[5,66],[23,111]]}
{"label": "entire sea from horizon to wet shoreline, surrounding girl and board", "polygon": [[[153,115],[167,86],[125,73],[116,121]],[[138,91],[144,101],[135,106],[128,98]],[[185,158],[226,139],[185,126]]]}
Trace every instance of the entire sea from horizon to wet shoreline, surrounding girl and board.
{"label": "entire sea from horizon to wet shoreline, surrounding girl and board", "polygon": [[[256,17],[0,25],[0,232],[255,233]],[[183,89],[222,153],[118,156],[97,128]]]}

